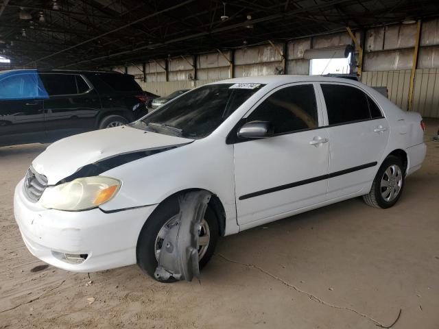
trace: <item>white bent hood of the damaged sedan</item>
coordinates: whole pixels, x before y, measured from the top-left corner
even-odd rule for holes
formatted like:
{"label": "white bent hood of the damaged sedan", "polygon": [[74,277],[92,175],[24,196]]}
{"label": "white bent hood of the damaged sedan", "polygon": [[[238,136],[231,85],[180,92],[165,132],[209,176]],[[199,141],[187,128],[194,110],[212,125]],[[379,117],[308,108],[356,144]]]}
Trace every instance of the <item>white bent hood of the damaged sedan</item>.
{"label": "white bent hood of the damaged sedan", "polygon": [[158,150],[193,142],[192,139],[145,132],[128,126],[95,130],[57,141],[32,162],[32,167],[53,185],[87,164],[121,154]]}

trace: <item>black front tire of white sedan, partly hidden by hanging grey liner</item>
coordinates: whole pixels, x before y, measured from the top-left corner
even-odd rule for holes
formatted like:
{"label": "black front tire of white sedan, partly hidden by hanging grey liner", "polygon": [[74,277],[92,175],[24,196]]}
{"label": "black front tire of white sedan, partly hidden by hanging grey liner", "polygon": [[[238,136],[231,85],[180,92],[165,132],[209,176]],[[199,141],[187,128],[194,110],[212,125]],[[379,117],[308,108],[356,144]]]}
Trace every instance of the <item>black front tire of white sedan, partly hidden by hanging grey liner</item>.
{"label": "black front tire of white sedan, partly hidden by hanging grey liner", "polygon": [[[137,264],[150,277],[154,278],[154,272],[157,268],[158,254],[163,241],[163,230],[166,226],[172,225],[173,220],[180,211],[178,199],[173,197],[165,200],[158,205],[156,210],[147,219],[139,235],[137,242]],[[209,235],[209,236],[208,236]],[[202,223],[202,232],[200,232],[200,247],[198,254],[200,256],[200,269],[202,269],[213,256],[219,236],[219,227],[215,211],[211,206],[207,206]],[[207,239],[208,238],[208,239]],[[174,278],[161,282],[175,282]]]}

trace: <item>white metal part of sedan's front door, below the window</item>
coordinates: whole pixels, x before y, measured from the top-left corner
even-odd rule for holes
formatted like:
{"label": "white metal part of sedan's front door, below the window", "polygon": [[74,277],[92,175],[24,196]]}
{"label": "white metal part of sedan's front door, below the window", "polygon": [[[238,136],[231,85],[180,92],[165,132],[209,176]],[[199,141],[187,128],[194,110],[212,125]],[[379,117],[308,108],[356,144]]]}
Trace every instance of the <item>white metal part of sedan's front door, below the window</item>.
{"label": "white metal part of sedan's front door, below the window", "polygon": [[328,138],[322,128],[235,145],[239,225],[325,201],[329,144],[310,145],[318,136]]}

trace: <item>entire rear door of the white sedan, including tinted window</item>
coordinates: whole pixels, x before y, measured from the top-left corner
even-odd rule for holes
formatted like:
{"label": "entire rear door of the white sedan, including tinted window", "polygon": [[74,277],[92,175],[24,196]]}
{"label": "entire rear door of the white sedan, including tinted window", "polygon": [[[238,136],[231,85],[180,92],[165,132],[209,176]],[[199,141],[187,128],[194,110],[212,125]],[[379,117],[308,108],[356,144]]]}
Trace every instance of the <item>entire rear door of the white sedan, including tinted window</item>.
{"label": "entire rear door of the white sedan, including tinted window", "polygon": [[329,124],[328,199],[335,199],[370,187],[388,143],[389,125],[361,88],[329,82],[320,86]]}

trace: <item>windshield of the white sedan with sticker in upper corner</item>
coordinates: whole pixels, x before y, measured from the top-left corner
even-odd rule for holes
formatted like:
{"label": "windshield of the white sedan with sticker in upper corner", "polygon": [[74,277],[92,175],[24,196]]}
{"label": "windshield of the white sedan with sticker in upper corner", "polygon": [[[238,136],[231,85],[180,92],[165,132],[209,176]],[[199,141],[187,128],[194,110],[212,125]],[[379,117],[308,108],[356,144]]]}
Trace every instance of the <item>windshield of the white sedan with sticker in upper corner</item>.
{"label": "windshield of the white sedan with sticker in upper corner", "polygon": [[185,93],[152,112],[138,127],[161,134],[204,138],[263,84],[210,84]]}

